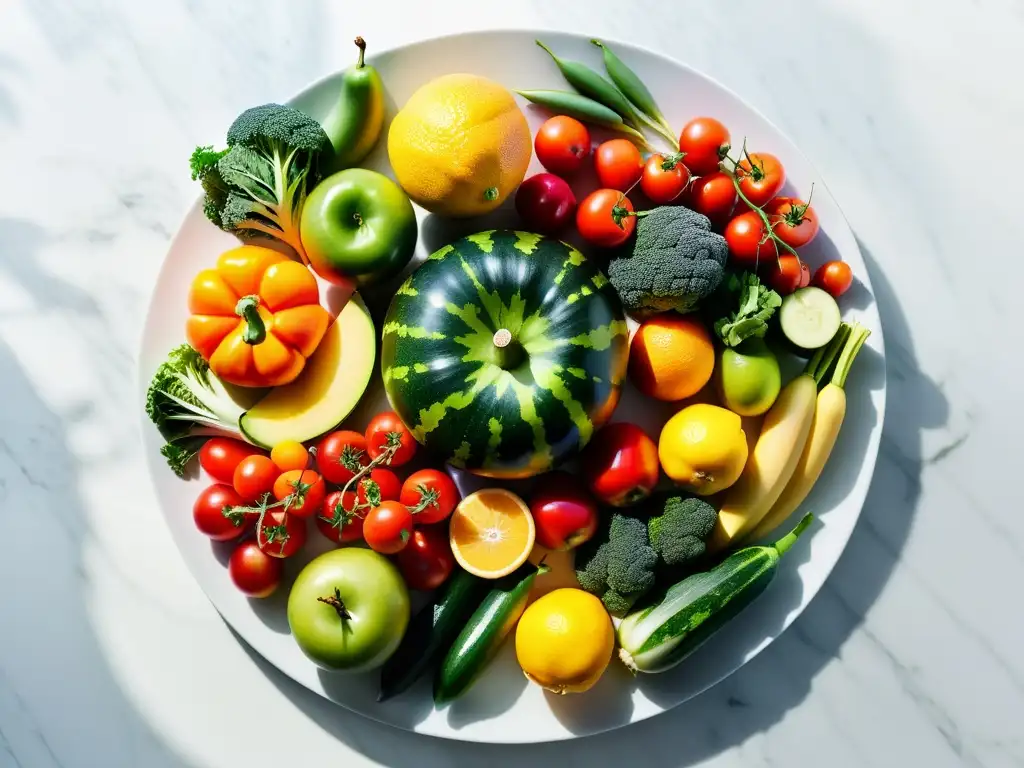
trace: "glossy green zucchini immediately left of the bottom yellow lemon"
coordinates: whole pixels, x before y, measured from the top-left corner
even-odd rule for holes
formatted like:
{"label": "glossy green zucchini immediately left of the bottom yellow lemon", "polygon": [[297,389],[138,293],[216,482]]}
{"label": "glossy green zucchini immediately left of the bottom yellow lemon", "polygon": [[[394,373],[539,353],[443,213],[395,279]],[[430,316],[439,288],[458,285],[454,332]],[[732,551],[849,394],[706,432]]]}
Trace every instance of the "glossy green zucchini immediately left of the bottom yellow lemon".
{"label": "glossy green zucchini immediately left of the bottom yellow lemon", "polygon": [[443,705],[461,696],[490,664],[526,609],[534,580],[546,570],[548,566],[543,563],[538,566],[525,562],[498,580],[437,670],[434,703]]}

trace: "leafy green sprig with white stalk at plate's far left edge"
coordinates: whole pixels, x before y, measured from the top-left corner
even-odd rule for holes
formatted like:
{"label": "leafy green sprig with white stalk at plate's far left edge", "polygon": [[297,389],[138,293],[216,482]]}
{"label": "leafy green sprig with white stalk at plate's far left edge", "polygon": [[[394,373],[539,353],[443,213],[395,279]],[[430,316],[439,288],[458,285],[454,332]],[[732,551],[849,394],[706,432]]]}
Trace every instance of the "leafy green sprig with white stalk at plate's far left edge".
{"label": "leafy green sprig with white stalk at plate's far left edge", "polygon": [[215,434],[242,437],[245,410],[188,344],[175,347],[153,375],[145,415],[167,440],[161,454],[179,477],[203,443]]}

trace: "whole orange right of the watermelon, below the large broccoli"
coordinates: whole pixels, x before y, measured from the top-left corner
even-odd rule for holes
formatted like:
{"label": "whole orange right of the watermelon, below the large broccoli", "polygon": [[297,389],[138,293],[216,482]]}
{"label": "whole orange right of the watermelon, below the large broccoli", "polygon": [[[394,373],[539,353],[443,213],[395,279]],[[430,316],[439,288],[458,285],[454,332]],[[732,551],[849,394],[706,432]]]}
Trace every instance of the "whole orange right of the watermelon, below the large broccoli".
{"label": "whole orange right of the watermelon, below the large broccoli", "polygon": [[659,314],[630,344],[630,380],[648,397],[681,400],[699,392],[715,370],[711,334],[695,317]]}

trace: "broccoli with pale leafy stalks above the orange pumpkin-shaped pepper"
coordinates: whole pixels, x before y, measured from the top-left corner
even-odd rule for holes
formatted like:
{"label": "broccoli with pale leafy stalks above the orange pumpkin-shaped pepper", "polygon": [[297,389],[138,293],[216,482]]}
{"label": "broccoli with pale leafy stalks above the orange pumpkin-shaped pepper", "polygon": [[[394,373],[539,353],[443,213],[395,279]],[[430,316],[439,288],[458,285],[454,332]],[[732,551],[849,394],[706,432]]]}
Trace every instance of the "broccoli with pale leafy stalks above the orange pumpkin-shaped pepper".
{"label": "broccoli with pale leafy stalks above the orange pumpkin-shaped pepper", "polygon": [[330,146],[319,123],[298,110],[246,110],[227,130],[227,150],[199,146],[193,153],[191,176],[206,193],[204,213],[240,238],[276,238],[303,254],[299,216]]}

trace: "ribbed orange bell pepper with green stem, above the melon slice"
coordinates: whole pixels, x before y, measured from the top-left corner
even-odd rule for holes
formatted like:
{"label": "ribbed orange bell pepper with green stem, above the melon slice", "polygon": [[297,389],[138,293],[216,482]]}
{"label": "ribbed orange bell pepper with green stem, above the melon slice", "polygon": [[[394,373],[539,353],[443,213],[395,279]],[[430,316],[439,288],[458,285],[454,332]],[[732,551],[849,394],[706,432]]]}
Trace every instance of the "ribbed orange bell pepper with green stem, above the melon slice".
{"label": "ribbed orange bell pepper with green stem, above the melon slice", "polygon": [[312,272],[260,246],[220,254],[188,291],[185,338],[221,380],[243,387],[293,381],[331,323]]}

